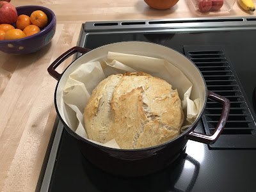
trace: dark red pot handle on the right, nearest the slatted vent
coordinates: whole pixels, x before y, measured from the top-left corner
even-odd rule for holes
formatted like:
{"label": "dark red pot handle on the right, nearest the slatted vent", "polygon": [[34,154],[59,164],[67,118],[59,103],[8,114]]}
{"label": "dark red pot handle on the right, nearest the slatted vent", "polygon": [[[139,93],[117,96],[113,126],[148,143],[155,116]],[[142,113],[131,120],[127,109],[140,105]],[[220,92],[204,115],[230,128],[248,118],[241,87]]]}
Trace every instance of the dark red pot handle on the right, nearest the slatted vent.
{"label": "dark red pot handle on the right, nearest the slatted vent", "polygon": [[223,108],[222,108],[222,112],[221,112],[221,116],[220,116],[218,125],[216,126],[216,128],[214,129],[214,132],[211,135],[202,134],[202,133],[195,132],[192,130],[191,132],[189,132],[186,135],[186,137],[189,140],[198,141],[200,143],[212,144],[218,139],[218,137],[220,136],[221,132],[223,131],[224,126],[228,120],[230,101],[227,98],[222,97],[222,96],[220,96],[216,93],[213,93],[211,91],[208,91],[207,94],[208,94],[209,99],[215,100],[216,102],[220,102],[223,104]]}

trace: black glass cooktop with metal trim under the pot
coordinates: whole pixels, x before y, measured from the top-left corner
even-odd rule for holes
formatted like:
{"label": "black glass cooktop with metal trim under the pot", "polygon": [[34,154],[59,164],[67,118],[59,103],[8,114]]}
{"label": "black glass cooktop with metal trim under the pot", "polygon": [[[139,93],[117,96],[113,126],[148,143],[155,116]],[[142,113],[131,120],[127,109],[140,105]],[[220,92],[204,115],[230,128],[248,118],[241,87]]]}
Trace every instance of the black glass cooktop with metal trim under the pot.
{"label": "black glass cooktop with metal trim under the pot", "polygon": [[[45,156],[41,191],[255,191],[256,17],[86,22],[78,46],[124,41],[161,44],[186,55],[207,88],[230,100],[230,115],[212,145],[188,141],[168,168],[118,177],[88,162],[58,118]],[[76,54],[74,60],[81,56]],[[211,134],[221,105],[207,100],[196,131]]]}

